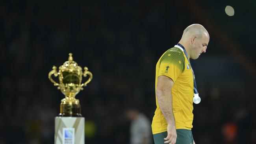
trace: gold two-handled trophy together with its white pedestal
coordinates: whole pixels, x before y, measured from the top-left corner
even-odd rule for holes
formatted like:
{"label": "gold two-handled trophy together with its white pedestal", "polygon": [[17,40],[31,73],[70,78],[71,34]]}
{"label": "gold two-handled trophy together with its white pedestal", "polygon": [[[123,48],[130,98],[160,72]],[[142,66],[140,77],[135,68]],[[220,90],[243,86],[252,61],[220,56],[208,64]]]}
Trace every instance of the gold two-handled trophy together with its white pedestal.
{"label": "gold two-handled trophy together with its white pedestal", "polygon": [[[75,96],[91,81],[93,74],[87,67],[82,72],[82,68],[73,61],[72,54],[69,54],[69,61],[59,66],[59,71],[56,66],[52,69],[48,78],[65,95],[61,100],[60,113],[55,117],[54,144],[84,144],[85,121],[81,114],[81,105]],[[52,79],[52,75],[59,76],[59,83]],[[82,76],[87,75],[89,78],[82,83]]]}

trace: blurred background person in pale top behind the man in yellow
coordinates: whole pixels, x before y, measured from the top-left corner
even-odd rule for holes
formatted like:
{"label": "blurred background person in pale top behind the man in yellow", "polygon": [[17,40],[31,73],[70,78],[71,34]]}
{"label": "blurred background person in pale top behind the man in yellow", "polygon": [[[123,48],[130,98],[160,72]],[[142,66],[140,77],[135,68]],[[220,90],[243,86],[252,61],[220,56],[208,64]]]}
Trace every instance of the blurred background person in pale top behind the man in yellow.
{"label": "blurred background person in pale top behind the man in yellow", "polygon": [[130,144],[152,144],[151,122],[138,109],[128,108],[126,117],[130,123]]}

